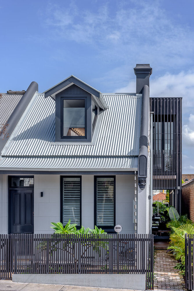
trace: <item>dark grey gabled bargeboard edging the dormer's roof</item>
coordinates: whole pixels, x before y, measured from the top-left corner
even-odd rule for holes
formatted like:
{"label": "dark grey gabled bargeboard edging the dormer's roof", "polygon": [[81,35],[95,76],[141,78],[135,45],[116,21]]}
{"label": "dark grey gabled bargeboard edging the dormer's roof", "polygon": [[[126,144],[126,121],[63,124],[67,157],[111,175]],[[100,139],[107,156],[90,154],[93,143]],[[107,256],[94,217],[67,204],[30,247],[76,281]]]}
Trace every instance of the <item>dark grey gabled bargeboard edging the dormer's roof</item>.
{"label": "dark grey gabled bargeboard edging the dormer's roof", "polygon": [[48,96],[51,96],[54,100],[55,100],[55,95],[63,90],[65,90],[66,88],[68,88],[71,85],[77,85],[78,87],[82,88],[83,90],[89,92],[91,95],[96,96],[102,106],[107,109],[108,106],[103,98],[103,95],[100,91],[98,91],[97,89],[93,88],[92,86],[88,85],[87,83],[83,82],[82,80],[78,79],[77,77],[71,75],[68,78],[64,79],[63,81],[61,81],[60,83],[54,85],[53,87],[49,88],[48,90],[44,91],[44,97],[47,98]]}

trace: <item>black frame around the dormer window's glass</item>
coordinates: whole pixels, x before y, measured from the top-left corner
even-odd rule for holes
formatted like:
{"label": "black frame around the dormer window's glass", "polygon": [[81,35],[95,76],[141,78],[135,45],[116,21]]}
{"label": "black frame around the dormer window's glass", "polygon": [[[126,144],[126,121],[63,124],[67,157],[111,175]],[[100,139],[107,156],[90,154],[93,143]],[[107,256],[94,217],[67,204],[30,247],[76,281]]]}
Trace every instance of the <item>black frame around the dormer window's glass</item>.
{"label": "black frame around the dormer window's glass", "polygon": [[[85,100],[85,136],[64,136],[63,135],[63,122],[64,122],[64,110],[63,100]],[[87,97],[61,97],[61,139],[87,139]]]}

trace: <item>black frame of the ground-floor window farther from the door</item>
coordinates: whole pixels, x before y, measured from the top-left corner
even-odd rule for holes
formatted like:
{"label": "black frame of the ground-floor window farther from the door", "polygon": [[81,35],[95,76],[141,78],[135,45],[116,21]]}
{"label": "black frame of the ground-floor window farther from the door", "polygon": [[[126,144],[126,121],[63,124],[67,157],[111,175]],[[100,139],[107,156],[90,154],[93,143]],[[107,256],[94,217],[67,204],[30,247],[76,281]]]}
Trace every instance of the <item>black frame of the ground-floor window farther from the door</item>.
{"label": "black frame of the ground-floor window farther from the door", "polygon": [[[98,225],[97,224],[97,178],[114,178],[114,225]],[[94,176],[94,225],[102,228],[105,231],[112,232],[116,225],[116,176],[115,175],[98,175]]]}

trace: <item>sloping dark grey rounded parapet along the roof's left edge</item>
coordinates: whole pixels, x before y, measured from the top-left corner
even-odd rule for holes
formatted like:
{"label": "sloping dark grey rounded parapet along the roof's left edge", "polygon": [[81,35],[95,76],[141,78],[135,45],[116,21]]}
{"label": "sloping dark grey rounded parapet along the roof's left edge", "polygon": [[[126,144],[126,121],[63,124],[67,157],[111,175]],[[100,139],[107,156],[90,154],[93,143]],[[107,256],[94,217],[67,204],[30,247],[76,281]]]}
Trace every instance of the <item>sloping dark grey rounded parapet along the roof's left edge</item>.
{"label": "sloping dark grey rounded parapet along the roof's left edge", "polygon": [[[8,134],[9,136],[12,134],[13,130],[15,129],[16,125],[18,124],[21,116],[23,115],[26,107],[30,103],[32,97],[34,96],[35,92],[38,91],[38,84],[33,81],[24,95],[21,97],[20,101],[18,102],[17,106],[15,107],[14,111],[12,112],[10,118],[8,119]],[[2,139],[0,137],[0,152],[3,150],[4,146],[6,145],[8,139]]]}

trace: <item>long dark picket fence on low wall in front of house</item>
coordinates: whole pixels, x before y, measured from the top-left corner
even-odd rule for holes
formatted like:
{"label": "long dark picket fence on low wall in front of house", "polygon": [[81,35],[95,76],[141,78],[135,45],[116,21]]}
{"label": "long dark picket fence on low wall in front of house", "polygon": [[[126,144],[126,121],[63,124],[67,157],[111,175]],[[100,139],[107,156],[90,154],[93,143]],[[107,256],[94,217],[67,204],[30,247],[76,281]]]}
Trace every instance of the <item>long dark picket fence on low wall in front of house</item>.
{"label": "long dark picket fence on low wall in front of house", "polygon": [[0,235],[0,278],[12,274],[146,274],[153,289],[153,235]]}

